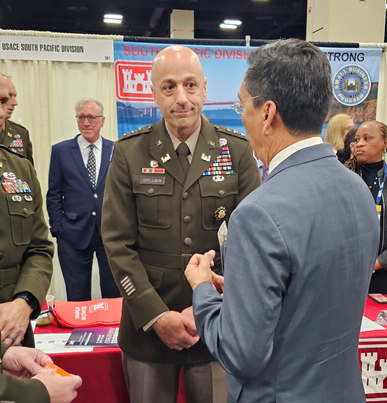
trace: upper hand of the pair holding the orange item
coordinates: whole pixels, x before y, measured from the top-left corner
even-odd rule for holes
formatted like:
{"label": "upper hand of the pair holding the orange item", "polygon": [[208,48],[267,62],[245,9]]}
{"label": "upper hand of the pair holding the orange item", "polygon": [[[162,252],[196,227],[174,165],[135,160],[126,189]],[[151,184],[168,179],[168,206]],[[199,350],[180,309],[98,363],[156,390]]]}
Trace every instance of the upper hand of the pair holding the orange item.
{"label": "upper hand of the pair holding the orange item", "polygon": [[28,347],[9,347],[3,356],[4,373],[18,379],[29,379],[53,360],[42,350]]}

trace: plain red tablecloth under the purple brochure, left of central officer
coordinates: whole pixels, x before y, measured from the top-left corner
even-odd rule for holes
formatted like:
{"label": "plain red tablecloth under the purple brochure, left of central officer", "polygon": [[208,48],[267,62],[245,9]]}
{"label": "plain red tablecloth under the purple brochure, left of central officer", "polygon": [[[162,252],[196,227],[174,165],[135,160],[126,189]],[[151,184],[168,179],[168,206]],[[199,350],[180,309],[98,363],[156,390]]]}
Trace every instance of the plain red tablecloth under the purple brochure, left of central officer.
{"label": "plain red tablecloth under the purple brochure, left of central officer", "polygon": [[[35,334],[71,333],[72,330],[59,329],[53,322],[48,327],[36,327]],[[78,389],[75,403],[130,402],[119,348],[97,347],[92,352],[50,354],[50,356],[60,368],[70,374],[81,376],[83,383]],[[181,377],[177,403],[185,403]]]}

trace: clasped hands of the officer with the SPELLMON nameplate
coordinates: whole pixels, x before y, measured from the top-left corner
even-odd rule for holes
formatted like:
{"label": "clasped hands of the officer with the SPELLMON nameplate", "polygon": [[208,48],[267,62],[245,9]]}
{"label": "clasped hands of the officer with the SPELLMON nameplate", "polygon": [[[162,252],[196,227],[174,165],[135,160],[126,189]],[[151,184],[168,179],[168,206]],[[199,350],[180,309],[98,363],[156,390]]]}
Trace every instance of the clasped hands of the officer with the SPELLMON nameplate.
{"label": "clasped hands of the officer with the SPELLMON nameplate", "polygon": [[[192,336],[192,329],[196,329],[193,318],[176,311],[169,311],[156,320],[153,330],[169,348],[181,351],[190,348],[199,341],[199,336]],[[190,332],[187,329],[191,329]]]}

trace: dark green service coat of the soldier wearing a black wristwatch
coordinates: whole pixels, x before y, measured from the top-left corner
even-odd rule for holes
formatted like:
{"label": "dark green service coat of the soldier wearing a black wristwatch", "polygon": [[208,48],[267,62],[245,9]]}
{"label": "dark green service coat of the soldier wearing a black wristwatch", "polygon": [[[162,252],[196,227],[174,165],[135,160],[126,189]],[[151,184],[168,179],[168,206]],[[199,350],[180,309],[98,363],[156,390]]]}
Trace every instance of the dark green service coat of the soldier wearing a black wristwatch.
{"label": "dark green service coat of the soldier wearing a black wristwatch", "polygon": [[[24,182],[24,190],[30,192],[22,192],[20,186],[16,189],[12,180]],[[53,275],[54,245],[48,239],[42,205],[31,163],[0,145],[0,303],[12,301],[19,292],[30,292],[39,302],[32,313],[35,317]],[[22,344],[34,346],[30,325]]]}

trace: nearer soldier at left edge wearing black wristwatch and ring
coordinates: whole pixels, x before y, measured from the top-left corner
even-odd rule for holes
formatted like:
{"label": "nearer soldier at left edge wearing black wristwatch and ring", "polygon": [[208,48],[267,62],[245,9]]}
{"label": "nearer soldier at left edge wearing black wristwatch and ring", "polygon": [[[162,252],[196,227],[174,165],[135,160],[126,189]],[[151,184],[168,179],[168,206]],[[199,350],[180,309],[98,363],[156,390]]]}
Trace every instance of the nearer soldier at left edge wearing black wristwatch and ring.
{"label": "nearer soldier at left edge wearing black wristwatch and ring", "polygon": [[[0,91],[4,106],[7,92]],[[39,315],[53,274],[42,204],[31,163],[0,145],[0,331],[8,345],[34,346],[29,320]]]}

